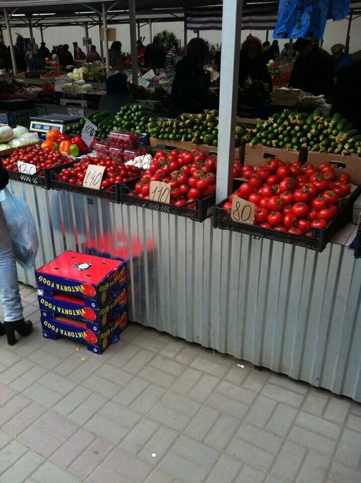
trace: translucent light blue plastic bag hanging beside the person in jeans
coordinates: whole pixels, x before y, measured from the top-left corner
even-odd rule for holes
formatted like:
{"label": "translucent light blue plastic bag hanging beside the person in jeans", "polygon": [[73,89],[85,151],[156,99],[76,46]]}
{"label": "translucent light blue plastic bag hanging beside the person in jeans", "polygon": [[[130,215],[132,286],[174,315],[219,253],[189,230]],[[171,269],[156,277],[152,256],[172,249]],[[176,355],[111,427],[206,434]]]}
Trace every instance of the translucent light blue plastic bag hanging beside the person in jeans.
{"label": "translucent light blue plastic bag hanging beside the person in jeans", "polygon": [[2,190],[1,201],[5,219],[14,246],[15,257],[23,268],[31,270],[39,248],[38,234],[33,215],[24,199]]}

